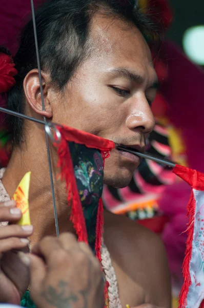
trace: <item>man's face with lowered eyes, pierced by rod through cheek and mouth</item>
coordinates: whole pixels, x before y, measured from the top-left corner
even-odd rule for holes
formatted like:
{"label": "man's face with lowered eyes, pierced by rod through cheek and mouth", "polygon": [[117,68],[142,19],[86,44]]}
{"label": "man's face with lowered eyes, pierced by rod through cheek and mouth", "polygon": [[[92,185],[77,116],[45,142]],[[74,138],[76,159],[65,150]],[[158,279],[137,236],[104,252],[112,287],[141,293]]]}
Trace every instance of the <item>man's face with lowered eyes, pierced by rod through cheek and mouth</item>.
{"label": "man's face with lowered eyes, pierced by rod through cheek and mouth", "polygon": [[[94,51],[68,83],[63,112],[58,104],[53,121],[144,151],[154,127],[150,103],[157,81],[148,45],[136,27],[99,14],[91,42]],[[104,182],[125,187],[138,165],[138,157],[115,149]]]}

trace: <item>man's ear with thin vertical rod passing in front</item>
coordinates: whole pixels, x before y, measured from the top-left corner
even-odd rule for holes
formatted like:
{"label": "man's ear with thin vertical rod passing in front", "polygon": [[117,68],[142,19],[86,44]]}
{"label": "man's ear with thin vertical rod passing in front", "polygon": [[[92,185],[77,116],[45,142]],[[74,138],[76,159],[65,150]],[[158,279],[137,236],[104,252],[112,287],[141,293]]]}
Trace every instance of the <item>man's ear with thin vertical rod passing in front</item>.
{"label": "man's ear with thin vertical rod passing in front", "polygon": [[32,69],[26,75],[24,79],[24,92],[26,95],[26,100],[30,107],[38,114],[43,115],[46,118],[52,118],[52,108],[49,99],[50,84],[49,84],[49,74],[41,71],[42,84],[43,84],[43,96],[45,110],[43,110],[42,99],[39,86],[39,76],[38,70]]}

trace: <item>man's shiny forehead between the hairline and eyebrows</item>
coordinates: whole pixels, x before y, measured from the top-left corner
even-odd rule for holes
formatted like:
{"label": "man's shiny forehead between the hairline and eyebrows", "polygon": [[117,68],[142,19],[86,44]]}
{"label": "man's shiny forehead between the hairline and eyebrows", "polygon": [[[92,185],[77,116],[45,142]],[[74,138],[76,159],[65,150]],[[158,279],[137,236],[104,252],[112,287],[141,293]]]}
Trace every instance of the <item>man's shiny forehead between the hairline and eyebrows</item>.
{"label": "man's shiny forehead between the hairline and eyebrows", "polygon": [[90,38],[93,57],[102,58],[104,66],[127,67],[155,79],[150,49],[136,26],[98,13],[92,20]]}

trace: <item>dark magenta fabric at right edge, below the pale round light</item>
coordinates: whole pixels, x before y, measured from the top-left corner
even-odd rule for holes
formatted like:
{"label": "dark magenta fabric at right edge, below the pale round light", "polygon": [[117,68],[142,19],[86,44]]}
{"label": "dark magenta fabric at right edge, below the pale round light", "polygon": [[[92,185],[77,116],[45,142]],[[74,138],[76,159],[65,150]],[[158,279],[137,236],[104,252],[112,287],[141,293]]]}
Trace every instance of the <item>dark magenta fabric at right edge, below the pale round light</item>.
{"label": "dark magenta fabric at right edge, below the pale round light", "polygon": [[189,167],[204,172],[204,72],[170,42],[163,44],[160,55],[168,60],[161,92],[170,104],[169,117],[182,130]]}

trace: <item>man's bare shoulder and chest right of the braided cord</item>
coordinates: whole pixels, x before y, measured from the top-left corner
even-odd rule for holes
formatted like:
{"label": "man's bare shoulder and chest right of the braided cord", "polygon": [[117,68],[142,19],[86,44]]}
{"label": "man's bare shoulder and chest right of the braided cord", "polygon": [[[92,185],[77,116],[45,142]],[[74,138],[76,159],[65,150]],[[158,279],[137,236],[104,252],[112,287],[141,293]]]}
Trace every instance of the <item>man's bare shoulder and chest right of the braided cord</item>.
{"label": "man's bare shoulder and chest right of the braided cord", "polygon": [[144,291],[145,302],[169,308],[170,275],[161,239],[136,222],[107,212],[104,240],[113,262],[131,277],[140,293]]}

